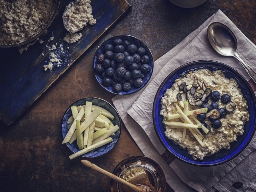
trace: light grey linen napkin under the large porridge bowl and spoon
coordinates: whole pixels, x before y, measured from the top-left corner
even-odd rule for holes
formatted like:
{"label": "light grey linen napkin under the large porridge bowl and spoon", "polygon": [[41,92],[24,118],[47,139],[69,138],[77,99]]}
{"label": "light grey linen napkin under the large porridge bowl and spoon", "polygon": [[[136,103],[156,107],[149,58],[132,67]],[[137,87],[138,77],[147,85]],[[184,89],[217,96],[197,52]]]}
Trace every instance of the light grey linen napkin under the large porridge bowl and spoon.
{"label": "light grey linen napkin under the large porridge bowl and spoon", "polygon": [[[244,183],[239,190],[250,191],[255,189],[256,185],[255,171],[253,172],[256,169],[256,165],[250,164],[250,169],[248,169],[248,160],[246,161],[246,159],[253,163],[256,161],[256,153],[254,152],[256,137],[238,157],[223,165],[196,167],[176,159],[168,167],[166,164],[169,164],[171,161],[168,162],[168,159],[165,158],[165,149],[153,128],[152,106],[156,90],[164,78],[182,64],[205,59],[220,61],[231,65],[249,80],[249,77],[238,61],[217,54],[208,43],[207,27],[214,21],[224,23],[233,30],[238,38],[239,54],[248,64],[255,68],[256,46],[219,10],[171,51],[155,61],[152,79],[143,91],[126,97],[116,96],[112,99],[139,148],[145,156],[155,159],[162,166],[167,176],[167,182],[174,191],[189,191],[190,189],[184,183],[197,191],[207,191],[211,187],[219,191],[235,191],[236,189],[232,187],[232,184],[236,181]],[[130,116],[127,115],[127,110]],[[237,173],[240,174],[237,175]]]}

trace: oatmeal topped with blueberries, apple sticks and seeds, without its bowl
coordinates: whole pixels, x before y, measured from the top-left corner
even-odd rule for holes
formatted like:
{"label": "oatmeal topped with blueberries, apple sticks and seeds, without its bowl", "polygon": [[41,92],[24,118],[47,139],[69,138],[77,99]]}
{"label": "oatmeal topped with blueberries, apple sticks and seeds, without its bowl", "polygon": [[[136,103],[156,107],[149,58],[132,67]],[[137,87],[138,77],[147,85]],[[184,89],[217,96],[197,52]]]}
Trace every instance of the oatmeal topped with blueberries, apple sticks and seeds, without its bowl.
{"label": "oatmeal topped with blueberries, apple sticks and seeds, without its bowl", "polygon": [[166,137],[195,160],[229,149],[249,120],[236,80],[221,70],[190,71],[167,89],[161,104]]}

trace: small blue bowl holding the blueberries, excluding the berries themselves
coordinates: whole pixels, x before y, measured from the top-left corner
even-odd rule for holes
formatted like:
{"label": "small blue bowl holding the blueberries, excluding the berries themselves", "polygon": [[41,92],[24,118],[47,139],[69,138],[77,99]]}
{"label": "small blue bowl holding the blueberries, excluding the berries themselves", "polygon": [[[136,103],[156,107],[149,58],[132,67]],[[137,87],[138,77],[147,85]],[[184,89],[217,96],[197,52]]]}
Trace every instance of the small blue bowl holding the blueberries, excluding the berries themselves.
{"label": "small blue bowl holding the blueberries, excluding the berries themselves", "polygon": [[[130,44],[135,44],[137,46],[137,48],[139,47],[143,47],[145,49],[145,54],[144,55],[148,55],[148,62],[146,64],[148,64],[150,66],[150,70],[148,72],[145,72],[143,73],[144,76],[141,77],[142,80],[143,80],[143,83],[140,87],[135,87],[134,85],[131,85],[131,89],[128,90],[128,91],[124,91],[123,89],[120,91],[120,92],[116,92],[114,91],[113,89],[113,85],[109,85],[109,86],[105,86],[103,85],[103,76],[101,76],[100,73],[97,73],[95,68],[96,68],[96,65],[99,64],[99,62],[97,61],[97,57],[101,54],[104,54],[105,51],[104,51],[104,47],[107,45],[107,44],[113,44],[113,41],[116,40],[116,39],[121,39],[123,42],[125,40],[129,41]],[[124,44],[123,44],[124,45]],[[125,51],[127,50],[127,48],[125,48]],[[114,51],[113,51],[114,52]],[[138,52],[138,51],[137,51]],[[137,53],[136,52],[136,53]],[[123,52],[124,53],[124,52]],[[130,55],[132,56],[132,54],[130,53]],[[141,56],[142,58],[142,56]],[[106,58],[104,58],[106,59]],[[113,58],[110,59],[110,61],[114,60]],[[122,62],[124,63],[124,62]],[[140,63],[140,64],[139,64]],[[114,67],[114,70],[117,69],[117,67],[119,66],[118,65],[119,63],[117,62],[116,63],[116,67]],[[139,65],[142,65],[143,63],[141,63],[141,61],[137,62],[137,64]],[[103,65],[103,64],[102,64]],[[138,65],[138,66],[139,66]],[[131,65],[130,65],[131,66]],[[134,69],[129,69],[128,65],[124,65],[124,67],[126,68],[126,70],[129,70],[131,73]],[[109,66],[109,67],[112,67]],[[108,68],[109,68],[108,67]],[[150,49],[148,49],[148,47],[142,42],[140,41],[138,38],[134,37],[134,36],[130,36],[130,35],[118,35],[118,36],[114,36],[114,37],[111,37],[109,38],[108,40],[106,40],[105,42],[102,43],[102,45],[97,49],[95,55],[94,55],[94,59],[93,59],[93,69],[94,69],[94,75],[97,79],[97,81],[99,82],[99,84],[107,91],[109,91],[110,93],[113,93],[113,94],[116,94],[116,95],[130,95],[130,94],[133,94],[133,93],[136,93],[137,91],[141,90],[143,87],[146,86],[146,84],[148,83],[148,81],[150,80],[151,76],[152,76],[152,73],[153,73],[153,68],[154,68],[154,61],[153,61],[153,56],[152,56],[152,53],[150,51]],[[137,70],[141,70],[140,67],[136,68]],[[105,68],[105,71],[106,72],[106,68]],[[115,71],[116,73],[116,71]],[[109,76],[109,78],[113,79],[113,76]],[[135,78],[131,78],[131,79],[134,79]],[[128,80],[124,80],[124,78],[122,79],[123,82],[127,82]],[[123,82],[122,80],[115,80],[116,82],[120,82],[123,86]]]}

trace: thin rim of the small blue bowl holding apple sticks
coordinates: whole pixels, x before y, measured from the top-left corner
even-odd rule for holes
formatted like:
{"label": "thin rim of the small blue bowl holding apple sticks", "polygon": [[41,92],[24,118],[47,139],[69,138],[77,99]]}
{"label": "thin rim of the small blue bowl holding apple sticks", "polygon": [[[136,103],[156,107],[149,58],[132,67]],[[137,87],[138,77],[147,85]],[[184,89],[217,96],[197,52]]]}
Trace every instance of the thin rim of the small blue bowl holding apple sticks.
{"label": "thin rim of the small blue bowl holding apple sticks", "polygon": [[[61,120],[61,125],[63,124],[63,119],[64,119],[65,114],[67,113],[68,109],[69,109],[71,106],[73,106],[76,102],[78,102],[78,101],[80,101],[80,100],[89,99],[89,98],[99,99],[99,100],[101,100],[101,101],[103,101],[103,102],[109,104],[109,105],[114,109],[114,111],[117,113],[117,116],[118,116],[118,119],[119,119],[119,122],[120,122],[120,136],[118,137],[118,140],[117,140],[116,144],[112,147],[112,149],[114,149],[114,148],[116,147],[117,143],[119,142],[120,137],[121,137],[122,121],[121,121],[121,117],[120,117],[118,111],[116,110],[116,108],[115,108],[113,105],[111,105],[109,102],[107,102],[106,100],[104,100],[104,99],[102,99],[102,98],[99,98],[99,97],[84,97],[84,98],[78,99],[77,101],[73,102],[73,103],[67,108],[67,110],[64,112],[64,114],[63,114],[63,116],[62,116],[62,120]],[[61,130],[62,130],[62,126],[61,126]],[[62,133],[62,131],[61,131],[61,133]],[[63,139],[64,139],[64,138],[63,138]],[[68,146],[67,143],[66,143],[66,146],[67,146],[73,153],[75,153],[75,151],[73,151],[73,150]],[[99,157],[102,157],[102,156],[108,154],[110,151],[112,151],[112,149],[110,149],[108,152],[104,153],[103,155],[100,155],[100,156],[97,156],[97,157],[84,157],[84,158],[86,158],[86,159],[95,159],[95,158],[99,158]],[[80,155],[80,157],[83,157],[83,156]]]}

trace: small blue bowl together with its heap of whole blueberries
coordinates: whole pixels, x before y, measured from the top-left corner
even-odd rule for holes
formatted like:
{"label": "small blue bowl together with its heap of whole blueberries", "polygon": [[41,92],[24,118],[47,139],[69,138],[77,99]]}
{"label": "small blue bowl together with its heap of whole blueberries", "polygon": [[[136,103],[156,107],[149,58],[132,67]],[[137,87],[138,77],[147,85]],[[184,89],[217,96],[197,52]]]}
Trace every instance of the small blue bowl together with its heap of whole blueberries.
{"label": "small blue bowl together with its heap of whole blueberries", "polygon": [[114,36],[96,51],[93,68],[100,85],[111,93],[129,95],[142,89],[153,72],[150,49],[136,37]]}

